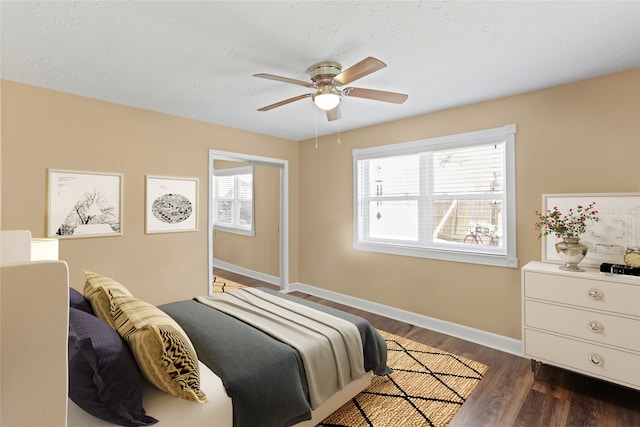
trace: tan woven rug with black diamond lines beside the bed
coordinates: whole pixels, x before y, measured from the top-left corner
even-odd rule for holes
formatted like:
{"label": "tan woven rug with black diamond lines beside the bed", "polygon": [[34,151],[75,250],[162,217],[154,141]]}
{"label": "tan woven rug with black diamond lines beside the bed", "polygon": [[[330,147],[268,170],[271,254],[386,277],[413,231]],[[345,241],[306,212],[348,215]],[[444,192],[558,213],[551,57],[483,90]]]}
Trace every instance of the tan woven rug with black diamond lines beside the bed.
{"label": "tan woven rug with black diamond lines beside the bed", "polygon": [[488,367],[437,348],[379,331],[393,373],[331,414],[322,427],[446,426]]}

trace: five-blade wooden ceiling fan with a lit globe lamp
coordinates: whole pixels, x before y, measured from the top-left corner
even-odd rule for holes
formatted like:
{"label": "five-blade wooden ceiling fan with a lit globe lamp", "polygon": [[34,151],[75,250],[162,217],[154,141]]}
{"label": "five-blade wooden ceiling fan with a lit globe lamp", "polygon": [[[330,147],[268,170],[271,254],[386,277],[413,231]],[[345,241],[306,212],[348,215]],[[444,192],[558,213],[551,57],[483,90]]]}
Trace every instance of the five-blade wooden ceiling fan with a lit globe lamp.
{"label": "five-blade wooden ceiling fan with a lit globe lamp", "polygon": [[338,64],[337,62],[319,62],[312,65],[307,70],[309,72],[309,75],[311,76],[310,82],[291,79],[288,77],[276,76],[273,74],[254,74],[254,77],[277,80],[280,82],[291,83],[308,88],[313,88],[316,90],[314,93],[305,93],[304,95],[294,96],[293,98],[285,99],[283,101],[276,102],[275,104],[267,105],[266,107],[259,108],[258,111],[268,111],[273,108],[289,104],[291,102],[311,97],[318,108],[327,112],[327,120],[331,121],[337,120],[342,117],[342,115],[340,114],[340,101],[342,99],[342,96],[353,96],[356,98],[367,98],[376,101],[402,104],[407,100],[409,95],[357,87],[347,87],[344,89],[340,89],[340,86],[347,85],[368,74],[381,70],[386,66],[387,64],[385,64],[384,62],[371,56],[363,59],[362,61],[347,68],[344,71],[342,70],[342,65]]}

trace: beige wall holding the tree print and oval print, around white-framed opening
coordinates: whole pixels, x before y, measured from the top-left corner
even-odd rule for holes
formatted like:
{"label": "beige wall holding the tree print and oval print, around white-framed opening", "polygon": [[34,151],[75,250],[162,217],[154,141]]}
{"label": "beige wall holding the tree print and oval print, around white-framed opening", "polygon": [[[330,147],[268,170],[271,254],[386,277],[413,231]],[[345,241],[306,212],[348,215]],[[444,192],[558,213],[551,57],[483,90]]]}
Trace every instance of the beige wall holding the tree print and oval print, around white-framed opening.
{"label": "beige wall holding the tree print and oval print, around white-framed opening", "polygon": [[[123,173],[123,235],[60,242],[71,285],[81,289],[82,270],[88,269],[155,304],[202,295],[207,290],[209,149],[289,161],[290,277],[296,280],[295,142],[5,80],[1,228],[45,235],[48,168]],[[144,233],[146,174],[199,179],[197,232]]]}

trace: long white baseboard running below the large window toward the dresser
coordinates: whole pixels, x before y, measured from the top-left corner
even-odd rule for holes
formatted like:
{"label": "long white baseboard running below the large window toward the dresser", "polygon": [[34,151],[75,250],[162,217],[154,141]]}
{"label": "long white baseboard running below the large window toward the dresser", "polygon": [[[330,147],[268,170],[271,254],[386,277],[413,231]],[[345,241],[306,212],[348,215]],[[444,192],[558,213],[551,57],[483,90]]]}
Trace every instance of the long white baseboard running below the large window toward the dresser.
{"label": "long white baseboard running below the large window toward the dresser", "polygon": [[289,291],[304,292],[305,294],[348,305],[349,307],[358,308],[380,316],[389,317],[400,322],[409,323],[421,328],[440,332],[466,341],[471,341],[476,344],[511,353],[516,356],[522,356],[522,342],[514,338],[459,325],[457,323],[447,322],[434,317],[424,316],[422,314],[413,313],[302,283],[290,284]]}

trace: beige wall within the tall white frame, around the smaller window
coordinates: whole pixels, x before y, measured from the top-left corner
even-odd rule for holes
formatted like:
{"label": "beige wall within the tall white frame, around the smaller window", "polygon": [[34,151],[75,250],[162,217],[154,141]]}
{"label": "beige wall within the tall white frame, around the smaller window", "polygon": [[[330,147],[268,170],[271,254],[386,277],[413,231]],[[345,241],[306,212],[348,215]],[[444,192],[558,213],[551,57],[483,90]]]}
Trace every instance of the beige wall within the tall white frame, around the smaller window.
{"label": "beige wall within the tall white frame, around the smaller window", "polygon": [[[247,163],[214,161],[216,169],[243,165]],[[215,230],[213,256],[235,266],[280,277],[280,168],[255,165],[253,177],[254,235]]]}

